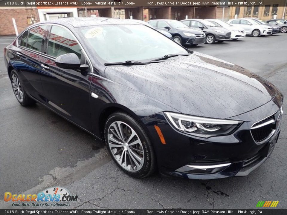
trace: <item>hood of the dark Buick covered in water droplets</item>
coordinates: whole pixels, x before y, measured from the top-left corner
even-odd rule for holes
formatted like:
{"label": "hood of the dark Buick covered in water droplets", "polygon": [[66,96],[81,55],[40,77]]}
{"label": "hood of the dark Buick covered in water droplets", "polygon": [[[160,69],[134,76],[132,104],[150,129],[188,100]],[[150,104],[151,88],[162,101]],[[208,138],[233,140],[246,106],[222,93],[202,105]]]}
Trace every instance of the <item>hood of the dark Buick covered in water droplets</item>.
{"label": "hood of the dark Buick covered in water droplets", "polygon": [[276,95],[276,87],[262,77],[197,52],[160,63],[108,66],[105,76],[178,112],[219,119],[253,110]]}

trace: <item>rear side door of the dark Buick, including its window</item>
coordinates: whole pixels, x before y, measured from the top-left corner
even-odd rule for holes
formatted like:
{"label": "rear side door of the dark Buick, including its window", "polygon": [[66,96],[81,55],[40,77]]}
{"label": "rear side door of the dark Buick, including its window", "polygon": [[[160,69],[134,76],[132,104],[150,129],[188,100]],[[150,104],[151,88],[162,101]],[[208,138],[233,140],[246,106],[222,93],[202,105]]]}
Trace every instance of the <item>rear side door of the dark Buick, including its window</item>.
{"label": "rear side door of the dark Buick, including its window", "polygon": [[41,100],[43,88],[40,79],[40,61],[45,42],[47,25],[39,25],[26,30],[18,40],[19,50],[16,52],[18,60],[16,69],[25,90],[30,96]]}

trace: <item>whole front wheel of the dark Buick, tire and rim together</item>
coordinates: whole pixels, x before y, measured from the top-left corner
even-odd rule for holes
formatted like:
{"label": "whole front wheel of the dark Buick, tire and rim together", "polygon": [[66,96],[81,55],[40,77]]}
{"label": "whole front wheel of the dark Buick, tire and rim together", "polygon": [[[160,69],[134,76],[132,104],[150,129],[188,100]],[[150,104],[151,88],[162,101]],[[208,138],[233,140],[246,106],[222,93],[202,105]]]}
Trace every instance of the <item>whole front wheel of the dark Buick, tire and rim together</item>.
{"label": "whole front wheel of the dark Buick, tire and rim together", "polygon": [[144,178],[155,171],[152,143],[143,125],[134,117],[123,111],[112,113],[105,123],[104,135],[112,159],[123,172]]}

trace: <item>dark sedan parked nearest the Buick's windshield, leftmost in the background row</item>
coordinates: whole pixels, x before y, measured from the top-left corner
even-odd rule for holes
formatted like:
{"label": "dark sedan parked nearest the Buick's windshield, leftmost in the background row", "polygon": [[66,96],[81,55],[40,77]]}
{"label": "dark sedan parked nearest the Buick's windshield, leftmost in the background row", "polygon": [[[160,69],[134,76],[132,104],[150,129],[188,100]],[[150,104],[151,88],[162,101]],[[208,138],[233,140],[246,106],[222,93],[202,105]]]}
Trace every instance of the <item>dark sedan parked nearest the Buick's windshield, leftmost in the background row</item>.
{"label": "dark sedan parked nearest the Buick's windshield, leftmost in the background row", "polygon": [[177,20],[153,19],[147,22],[157,30],[164,30],[172,35],[175,42],[182,45],[205,43],[205,34],[201,30],[190,29]]}

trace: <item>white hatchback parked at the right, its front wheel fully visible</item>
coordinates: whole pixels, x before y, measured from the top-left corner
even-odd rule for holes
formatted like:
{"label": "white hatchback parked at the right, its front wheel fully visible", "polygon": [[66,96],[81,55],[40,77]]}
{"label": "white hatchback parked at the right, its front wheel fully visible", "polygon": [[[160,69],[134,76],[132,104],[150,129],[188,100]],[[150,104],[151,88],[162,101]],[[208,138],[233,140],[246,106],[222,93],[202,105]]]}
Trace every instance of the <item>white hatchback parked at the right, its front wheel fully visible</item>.
{"label": "white hatchback parked at the right, its front wheel fully visible", "polygon": [[246,35],[252,35],[254,37],[265,36],[272,34],[272,28],[264,24],[259,24],[252,19],[230,19],[229,24],[242,27],[245,30]]}

